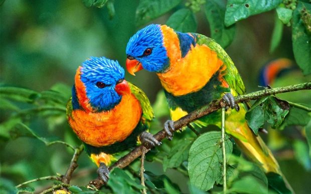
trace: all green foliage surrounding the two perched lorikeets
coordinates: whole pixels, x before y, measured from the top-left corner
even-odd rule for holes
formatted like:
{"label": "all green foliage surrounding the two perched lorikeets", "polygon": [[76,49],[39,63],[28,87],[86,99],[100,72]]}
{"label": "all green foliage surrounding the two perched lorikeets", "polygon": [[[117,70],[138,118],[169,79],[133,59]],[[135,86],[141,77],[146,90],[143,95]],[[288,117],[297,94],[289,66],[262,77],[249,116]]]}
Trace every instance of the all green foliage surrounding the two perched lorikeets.
{"label": "all green foliage surrounding the two perched lorikeets", "polygon": [[[131,3],[126,0],[37,0],[33,3],[2,0],[0,3],[4,21],[1,27],[4,70],[0,87],[2,192],[39,192],[61,185],[60,180],[50,178],[52,180],[16,187],[38,177],[65,174],[74,147],[81,144],[68,126],[65,114],[75,69],[90,55],[105,55],[124,63],[128,38],[146,23],[166,23],[178,31],[211,36],[228,48],[250,90],[262,89],[256,87],[258,70],[272,57],[291,58],[300,69],[293,65],[271,86],[307,82],[311,78],[311,3],[307,0],[139,0]],[[259,13],[255,18],[250,17]],[[274,21],[273,30],[271,21]],[[262,28],[262,31],[253,32],[252,28]],[[265,36],[268,42],[265,45],[269,46],[261,45],[261,36]],[[267,41],[270,38],[271,41]],[[141,86],[153,101],[156,118],[150,132],[156,133],[169,118],[159,81],[146,73],[140,78],[128,76],[128,79]],[[307,90],[263,97],[254,101],[246,114],[256,134],[259,128],[268,130],[268,145],[297,193],[311,189],[308,184],[311,178],[310,96]],[[172,141],[164,140],[161,146],[146,154],[144,177],[148,193],[221,192],[223,162],[228,163],[227,192],[291,192],[281,176],[265,174],[241,156],[228,135],[225,136],[227,161],[223,161],[221,132],[217,126],[197,130],[199,135],[190,129],[179,132]],[[73,193],[134,193],[143,188],[138,159],[122,170],[113,169],[107,185],[100,191],[86,187],[96,177],[96,166],[84,152],[78,164],[67,185]]]}

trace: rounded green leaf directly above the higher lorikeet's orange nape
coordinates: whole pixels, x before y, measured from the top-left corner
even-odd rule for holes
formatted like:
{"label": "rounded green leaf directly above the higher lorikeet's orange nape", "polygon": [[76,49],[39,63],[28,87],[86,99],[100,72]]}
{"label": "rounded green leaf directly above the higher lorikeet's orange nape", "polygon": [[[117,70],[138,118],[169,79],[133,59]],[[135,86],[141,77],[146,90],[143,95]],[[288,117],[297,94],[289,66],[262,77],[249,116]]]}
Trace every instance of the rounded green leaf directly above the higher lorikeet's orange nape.
{"label": "rounded green leaf directly above the higher lorikeet's orange nape", "polygon": [[198,22],[190,9],[182,8],[170,16],[167,25],[174,28],[176,31],[196,32]]}

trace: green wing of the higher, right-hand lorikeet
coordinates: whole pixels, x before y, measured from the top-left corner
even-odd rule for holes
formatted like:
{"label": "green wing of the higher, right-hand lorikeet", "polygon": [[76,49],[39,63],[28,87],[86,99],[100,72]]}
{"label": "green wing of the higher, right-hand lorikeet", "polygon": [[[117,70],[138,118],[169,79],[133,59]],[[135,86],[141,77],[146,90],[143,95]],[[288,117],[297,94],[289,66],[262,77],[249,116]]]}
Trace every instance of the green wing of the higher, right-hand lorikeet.
{"label": "green wing of the higher, right-hand lorikeet", "polygon": [[217,56],[227,66],[227,71],[224,75],[224,78],[228,82],[230,88],[236,90],[240,95],[245,93],[245,86],[242,78],[227,52],[214,39],[198,33],[195,33],[195,35],[197,36],[196,43],[200,45],[205,44],[211,50],[214,50],[217,53]]}

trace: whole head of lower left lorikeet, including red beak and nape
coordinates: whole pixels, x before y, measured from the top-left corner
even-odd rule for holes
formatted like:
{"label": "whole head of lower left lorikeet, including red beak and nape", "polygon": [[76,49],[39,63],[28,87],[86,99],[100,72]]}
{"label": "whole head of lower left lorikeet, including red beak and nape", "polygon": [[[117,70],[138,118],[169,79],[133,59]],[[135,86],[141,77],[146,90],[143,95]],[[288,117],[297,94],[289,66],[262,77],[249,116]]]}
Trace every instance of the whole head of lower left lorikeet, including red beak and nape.
{"label": "whole head of lower left lorikeet, including red beak and nape", "polygon": [[78,105],[85,110],[107,111],[117,105],[125,94],[130,94],[130,88],[124,80],[124,69],[117,61],[90,57],[77,69],[73,104],[78,101]]}

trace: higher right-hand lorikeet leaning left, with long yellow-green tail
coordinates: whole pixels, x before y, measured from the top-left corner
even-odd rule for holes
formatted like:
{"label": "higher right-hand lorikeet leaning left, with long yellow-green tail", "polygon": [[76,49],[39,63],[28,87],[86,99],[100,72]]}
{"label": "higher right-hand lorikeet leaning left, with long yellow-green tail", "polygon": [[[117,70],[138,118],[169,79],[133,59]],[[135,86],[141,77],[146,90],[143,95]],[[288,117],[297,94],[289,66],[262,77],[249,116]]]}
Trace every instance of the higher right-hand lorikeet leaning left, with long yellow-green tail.
{"label": "higher right-hand lorikeet leaning left, with long yellow-green tail", "polygon": [[[198,33],[182,33],[167,25],[150,24],[137,31],[126,47],[129,73],[144,68],[156,72],[164,87],[172,120],[224,98],[231,107],[226,112],[226,132],[242,151],[260,164],[265,172],[281,174],[279,165],[260,136],[245,120],[246,107],[240,109],[233,95],[245,93],[244,83],[226,51],[213,39]],[[238,111],[239,110],[239,111]],[[221,112],[215,111],[196,120],[198,126],[221,124]],[[173,122],[165,123],[174,130]]]}

